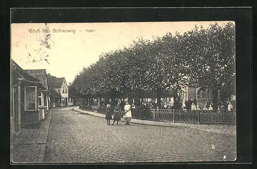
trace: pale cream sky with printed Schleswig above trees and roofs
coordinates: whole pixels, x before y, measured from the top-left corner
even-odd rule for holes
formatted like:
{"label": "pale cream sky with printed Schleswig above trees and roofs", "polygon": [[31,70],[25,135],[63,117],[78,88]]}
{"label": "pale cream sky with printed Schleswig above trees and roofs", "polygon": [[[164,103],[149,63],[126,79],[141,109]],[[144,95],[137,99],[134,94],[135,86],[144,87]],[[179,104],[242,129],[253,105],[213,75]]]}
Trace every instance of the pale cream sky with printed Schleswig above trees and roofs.
{"label": "pale cream sky with printed Schleswig above trees and roofs", "polygon": [[211,23],[228,22],[12,24],[11,58],[24,70],[46,69],[69,83],[102,53],[129,46],[138,37],[152,40],[167,32],[183,34],[195,25],[207,28]]}

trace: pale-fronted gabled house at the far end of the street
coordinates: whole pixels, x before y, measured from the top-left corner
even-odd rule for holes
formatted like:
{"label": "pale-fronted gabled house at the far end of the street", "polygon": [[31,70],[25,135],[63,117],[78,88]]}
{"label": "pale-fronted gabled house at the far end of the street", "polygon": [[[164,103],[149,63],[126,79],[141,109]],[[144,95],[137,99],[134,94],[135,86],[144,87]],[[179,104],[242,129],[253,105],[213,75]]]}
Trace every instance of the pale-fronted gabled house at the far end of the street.
{"label": "pale-fronted gabled house at the far end of the street", "polygon": [[[68,105],[68,85],[64,77],[51,76],[47,74],[50,88],[50,106],[59,107]],[[55,104],[55,105],[54,105]]]}

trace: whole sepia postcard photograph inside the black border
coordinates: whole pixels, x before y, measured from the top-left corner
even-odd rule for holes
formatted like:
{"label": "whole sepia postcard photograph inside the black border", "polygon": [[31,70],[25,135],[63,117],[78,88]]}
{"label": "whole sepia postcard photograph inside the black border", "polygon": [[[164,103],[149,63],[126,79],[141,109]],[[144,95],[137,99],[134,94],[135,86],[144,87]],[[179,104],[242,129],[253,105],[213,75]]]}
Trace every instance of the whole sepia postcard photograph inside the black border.
{"label": "whole sepia postcard photograph inside the black border", "polygon": [[236,160],[235,22],[11,25],[11,162]]}

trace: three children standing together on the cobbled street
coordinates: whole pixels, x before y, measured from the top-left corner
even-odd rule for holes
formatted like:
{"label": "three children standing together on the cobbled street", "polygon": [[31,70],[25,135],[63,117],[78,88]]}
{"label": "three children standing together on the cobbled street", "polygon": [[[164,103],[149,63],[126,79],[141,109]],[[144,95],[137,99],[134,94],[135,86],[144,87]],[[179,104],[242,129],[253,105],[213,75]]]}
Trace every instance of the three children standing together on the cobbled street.
{"label": "three children standing together on the cobbled street", "polygon": [[[114,109],[114,114],[112,117],[112,110],[111,110],[111,104],[107,104],[106,106],[106,115],[105,115],[105,119],[107,120],[107,125],[114,125],[115,121],[117,121],[117,125],[119,120],[121,120],[121,114],[122,112],[124,112],[124,116],[123,118],[126,120],[126,125],[130,125],[130,121],[132,118],[132,114],[131,114],[131,105],[128,104],[128,101],[126,102],[126,104],[123,106],[120,106],[119,104],[116,105],[115,109]],[[114,120],[113,124],[111,124],[111,120]]]}

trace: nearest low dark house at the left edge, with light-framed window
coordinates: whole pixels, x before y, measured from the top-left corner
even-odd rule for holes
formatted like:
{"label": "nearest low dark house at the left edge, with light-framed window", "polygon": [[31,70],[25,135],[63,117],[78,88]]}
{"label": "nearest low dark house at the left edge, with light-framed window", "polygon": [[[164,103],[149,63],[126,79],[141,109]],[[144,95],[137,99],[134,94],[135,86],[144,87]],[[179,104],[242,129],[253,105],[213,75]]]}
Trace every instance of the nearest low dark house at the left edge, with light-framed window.
{"label": "nearest low dark house at the left edge, with light-framed window", "polygon": [[39,128],[39,91],[47,90],[39,79],[30,76],[11,60],[11,133],[21,128]]}

